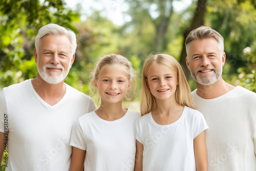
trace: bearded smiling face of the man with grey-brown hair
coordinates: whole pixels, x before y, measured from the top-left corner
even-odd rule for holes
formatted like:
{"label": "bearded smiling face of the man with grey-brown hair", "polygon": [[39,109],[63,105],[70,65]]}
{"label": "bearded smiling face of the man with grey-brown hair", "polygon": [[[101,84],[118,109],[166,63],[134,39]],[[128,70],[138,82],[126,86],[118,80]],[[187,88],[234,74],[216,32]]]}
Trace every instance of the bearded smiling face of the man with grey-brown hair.
{"label": "bearded smiling face of the man with grey-brown hair", "polygon": [[221,54],[215,38],[191,41],[188,54],[187,67],[196,82],[210,85],[221,78],[225,53]]}

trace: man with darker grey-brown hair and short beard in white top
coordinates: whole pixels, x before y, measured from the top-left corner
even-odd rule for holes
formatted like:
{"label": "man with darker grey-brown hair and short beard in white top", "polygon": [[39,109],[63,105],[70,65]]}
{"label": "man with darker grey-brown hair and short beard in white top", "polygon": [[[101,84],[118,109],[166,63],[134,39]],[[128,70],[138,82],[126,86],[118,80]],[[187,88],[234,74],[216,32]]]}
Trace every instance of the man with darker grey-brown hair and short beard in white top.
{"label": "man with darker grey-brown hair and short beard in white top", "polygon": [[185,41],[186,63],[195,79],[197,110],[209,126],[205,131],[208,170],[256,170],[256,94],[222,79],[224,39],[201,26]]}

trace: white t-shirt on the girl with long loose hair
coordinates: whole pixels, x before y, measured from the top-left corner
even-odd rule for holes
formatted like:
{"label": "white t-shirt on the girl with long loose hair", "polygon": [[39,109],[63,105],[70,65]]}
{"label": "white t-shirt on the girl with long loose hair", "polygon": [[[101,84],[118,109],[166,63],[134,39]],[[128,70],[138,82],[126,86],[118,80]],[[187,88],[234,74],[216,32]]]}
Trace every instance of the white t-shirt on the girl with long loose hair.
{"label": "white t-shirt on the girl with long loose hair", "polygon": [[136,139],[143,144],[143,170],[196,170],[194,139],[208,128],[203,115],[184,107],[181,117],[157,124],[151,112],[136,122]]}

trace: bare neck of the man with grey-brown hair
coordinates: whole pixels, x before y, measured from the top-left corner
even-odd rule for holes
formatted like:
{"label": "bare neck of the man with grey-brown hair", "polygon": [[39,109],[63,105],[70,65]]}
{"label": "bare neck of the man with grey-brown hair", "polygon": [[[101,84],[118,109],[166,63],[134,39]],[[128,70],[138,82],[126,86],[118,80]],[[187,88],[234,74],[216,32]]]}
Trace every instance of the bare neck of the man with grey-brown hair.
{"label": "bare neck of the man with grey-brown hair", "polygon": [[214,99],[220,97],[229,91],[233,90],[235,87],[225,82],[222,77],[213,84],[204,86],[202,84],[197,84],[197,95],[204,99]]}

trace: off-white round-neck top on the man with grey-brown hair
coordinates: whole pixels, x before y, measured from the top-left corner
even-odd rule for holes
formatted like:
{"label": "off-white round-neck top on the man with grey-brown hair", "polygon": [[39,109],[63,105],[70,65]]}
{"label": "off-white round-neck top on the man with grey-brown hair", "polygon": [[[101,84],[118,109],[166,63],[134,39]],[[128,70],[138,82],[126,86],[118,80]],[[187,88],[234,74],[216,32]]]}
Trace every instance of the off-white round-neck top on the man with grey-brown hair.
{"label": "off-white round-neck top on the man with grey-brown hair", "polygon": [[215,98],[192,93],[209,129],[205,132],[208,169],[256,170],[256,94],[237,86]]}

